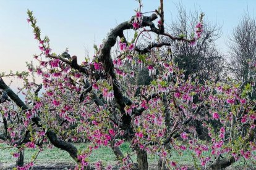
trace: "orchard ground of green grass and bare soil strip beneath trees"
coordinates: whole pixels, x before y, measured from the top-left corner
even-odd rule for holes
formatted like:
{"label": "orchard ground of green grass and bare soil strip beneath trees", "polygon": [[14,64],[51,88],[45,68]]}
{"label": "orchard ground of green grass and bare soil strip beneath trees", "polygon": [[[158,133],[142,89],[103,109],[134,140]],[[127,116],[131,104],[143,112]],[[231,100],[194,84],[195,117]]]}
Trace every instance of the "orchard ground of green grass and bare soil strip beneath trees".
{"label": "orchard ground of green grass and bare soil strip beneath trees", "polygon": [[[87,147],[87,144],[75,144],[76,147],[81,150]],[[0,144],[0,148],[8,147],[8,145]],[[121,145],[121,151],[130,155],[132,161],[136,163],[135,153],[132,152],[132,149],[129,146],[129,143],[126,142]],[[15,166],[15,160],[11,153],[15,152],[13,148],[6,148],[0,152],[0,169],[12,169]],[[30,161],[30,159],[37,153],[36,149],[28,148],[25,150],[25,163]],[[210,153],[205,153],[208,155]],[[200,166],[200,162],[193,158],[194,153],[187,151],[183,155],[179,155],[177,152],[172,153],[174,161],[181,163],[182,165],[187,165],[189,169],[205,169]],[[148,155],[150,169],[157,169],[158,156]],[[98,150],[92,153],[90,156],[90,162],[96,163],[96,161],[103,161],[103,164],[111,163],[116,169],[119,169],[116,164],[116,156],[113,151],[108,147],[100,147]],[[35,161],[35,166],[33,169],[69,169],[74,168],[75,161],[70,159],[70,156],[66,154],[65,151],[59,150],[59,148],[53,147],[48,148],[44,147],[43,151],[38,155],[38,158]],[[256,164],[246,163],[245,160],[240,160],[234,163],[232,166],[229,166],[226,169],[256,169]]]}

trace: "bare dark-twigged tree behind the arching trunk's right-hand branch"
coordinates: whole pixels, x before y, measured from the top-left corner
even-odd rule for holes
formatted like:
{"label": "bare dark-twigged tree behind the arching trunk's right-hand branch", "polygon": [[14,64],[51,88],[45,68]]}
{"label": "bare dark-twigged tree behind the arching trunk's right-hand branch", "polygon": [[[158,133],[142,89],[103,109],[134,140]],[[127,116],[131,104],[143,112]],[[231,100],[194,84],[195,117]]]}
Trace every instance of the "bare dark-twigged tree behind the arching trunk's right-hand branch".
{"label": "bare dark-twigged tree behind the arching trunk's right-hand branch", "polygon": [[[178,16],[169,26],[169,32],[181,37],[194,38],[195,28],[199,22],[197,9],[187,12],[182,4],[177,4]],[[172,52],[174,61],[180,68],[186,70],[186,78],[193,73],[199,73],[200,80],[219,76],[223,69],[223,55],[216,47],[216,39],[221,37],[221,26],[216,23],[203,22],[203,32],[196,44],[182,42],[174,43]]]}

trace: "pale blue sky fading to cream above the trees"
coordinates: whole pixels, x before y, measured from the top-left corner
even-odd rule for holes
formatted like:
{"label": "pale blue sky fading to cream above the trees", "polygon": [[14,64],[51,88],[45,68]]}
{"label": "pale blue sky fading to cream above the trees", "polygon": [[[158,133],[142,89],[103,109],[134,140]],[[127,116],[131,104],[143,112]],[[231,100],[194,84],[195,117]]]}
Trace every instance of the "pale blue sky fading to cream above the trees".
{"label": "pale blue sky fading to cream above the trees", "polygon": [[[242,14],[254,16],[255,0],[164,0],[164,17],[171,22],[176,4],[187,10],[202,10],[205,17],[222,26],[219,49],[228,51],[226,39]],[[142,12],[158,9],[158,0],[143,0]],[[111,28],[129,20],[138,3],[134,0],[0,0],[0,72],[26,70],[26,61],[39,54],[38,42],[27,23],[27,9],[33,11],[42,35],[50,39],[56,54],[69,48],[82,61],[85,49],[93,54],[93,44],[101,44]]]}

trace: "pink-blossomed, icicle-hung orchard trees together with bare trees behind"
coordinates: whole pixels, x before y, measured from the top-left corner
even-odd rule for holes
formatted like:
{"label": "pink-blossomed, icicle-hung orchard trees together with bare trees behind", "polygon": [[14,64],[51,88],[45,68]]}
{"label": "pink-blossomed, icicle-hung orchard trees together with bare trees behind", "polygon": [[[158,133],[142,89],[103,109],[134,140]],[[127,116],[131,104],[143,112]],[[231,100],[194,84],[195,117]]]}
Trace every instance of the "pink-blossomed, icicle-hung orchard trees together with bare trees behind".
{"label": "pink-blossomed, icicle-hung orchard trees together with bare trees behind", "polygon": [[[17,148],[17,169],[29,169],[37,157],[24,165],[25,148],[37,148],[39,154],[48,144],[69,153],[76,169],[112,169],[88,161],[103,145],[113,150],[120,169],[148,169],[149,154],[158,155],[158,169],[187,169],[171,156],[187,150],[210,169],[226,168],[241,158],[254,162],[254,20],[241,20],[230,43],[236,55],[225,63],[215,44],[218,25],[180,7],[177,20],[168,26],[163,9],[160,0],[159,9],[146,16],[139,1],[135,15],[95,46],[93,60],[80,64],[68,51],[52,52],[49,38],[41,36],[28,10],[41,51],[34,56],[38,64],[27,63],[28,72],[0,77],[0,137]],[[124,36],[126,30],[134,32],[133,39]],[[115,44],[118,53],[113,53]],[[234,76],[224,77],[224,66]],[[29,75],[40,76],[42,84],[29,81]],[[9,76],[23,80],[25,101],[4,82]],[[119,149],[125,141],[137,155],[138,166]],[[88,147],[77,150],[74,142]]]}

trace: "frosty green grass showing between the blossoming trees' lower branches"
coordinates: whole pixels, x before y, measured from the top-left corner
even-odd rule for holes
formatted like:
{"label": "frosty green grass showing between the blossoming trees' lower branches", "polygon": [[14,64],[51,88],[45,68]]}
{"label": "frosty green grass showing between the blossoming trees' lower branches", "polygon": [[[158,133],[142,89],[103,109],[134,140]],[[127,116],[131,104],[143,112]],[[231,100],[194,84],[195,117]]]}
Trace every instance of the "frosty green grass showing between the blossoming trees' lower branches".
{"label": "frosty green grass showing between the blossoming trees' lower branches", "polygon": [[[87,144],[75,144],[76,147],[79,150],[87,148]],[[11,164],[15,163],[16,158],[13,158],[11,153],[17,152],[17,149],[15,148],[6,148],[2,150],[2,148],[7,147],[5,144],[0,144],[0,163],[6,163]],[[136,161],[136,156],[134,152],[132,152],[131,148],[129,147],[129,143],[124,143],[120,147],[122,153],[125,155],[129,154],[130,158],[132,158],[132,161]],[[32,156],[37,153],[36,149],[26,148],[25,149],[25,163],[32,160]],[[182,153],[182,155],[179,155],[176,151],[172,152],[172,158],[173,161],[178,162],[180,165],[188,165],[188,166],[194,166],[194,160],[192,158],[192,155],[194,153],[187,151]],[[210,155],[209,153],[204,153],[205,155]],[[96,162],[96,161],[103,161],[103,164],[110,163],[115,164],[116,163],[116,156],[114,155],[113,151],[108,147],[100,147],[98,150],[93,151],[92,155],[90,156],[90,161]],[[200,166],[200,162],[198,160],[195,161],[198,166]],[[35,164],[44,164],[44,163],[66,163],[66,164],[74,164],[75,161],[72,160],[72,158],[67,154],[67,152],[63,150],[59,150],[59,148],[53,147],[53,148],[43,148],[43,151],[38,155],[38,158],[35,161]],[[156,165],[158,163],[158,156],[157,155],[148,155],[148,163]],[[249,166],[252,166],[252,163],[247,163]],[[247,166],[243,159],[240,161],[237,161],[233,164],[233,166]],[[255,165],[253,166],[255,167]]]}

